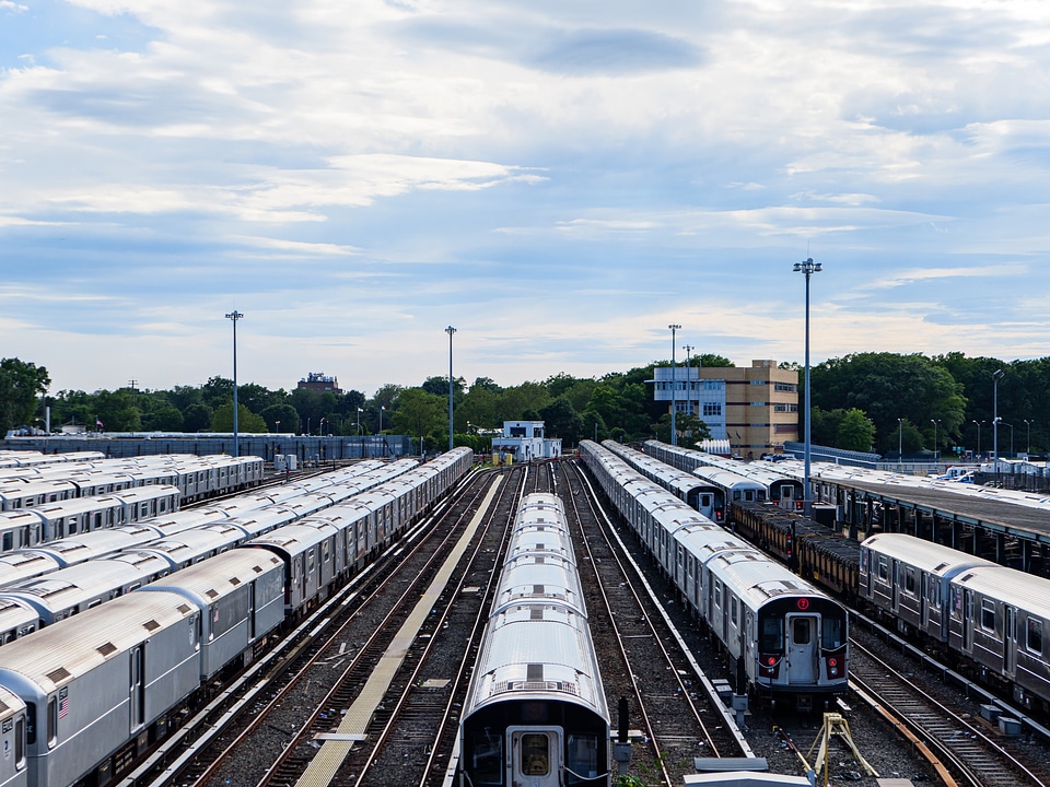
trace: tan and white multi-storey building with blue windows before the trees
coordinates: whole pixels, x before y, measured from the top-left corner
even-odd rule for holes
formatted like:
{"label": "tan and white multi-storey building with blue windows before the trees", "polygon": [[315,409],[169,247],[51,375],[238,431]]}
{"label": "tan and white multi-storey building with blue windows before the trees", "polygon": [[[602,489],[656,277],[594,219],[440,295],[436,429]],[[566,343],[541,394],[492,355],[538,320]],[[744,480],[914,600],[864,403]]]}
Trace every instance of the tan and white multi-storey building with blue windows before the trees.
{"label": "tan and white multi-storey building with blue windows before the trees", "polygon": [[751,361],[750,366],[658,366],[654,371],[655,401],[670,402],[675,412],[695,414],[712,439],[727,439],[745,458],[782,454],[785,442],[798,439],[798,373],[777,368],[775,361]]}

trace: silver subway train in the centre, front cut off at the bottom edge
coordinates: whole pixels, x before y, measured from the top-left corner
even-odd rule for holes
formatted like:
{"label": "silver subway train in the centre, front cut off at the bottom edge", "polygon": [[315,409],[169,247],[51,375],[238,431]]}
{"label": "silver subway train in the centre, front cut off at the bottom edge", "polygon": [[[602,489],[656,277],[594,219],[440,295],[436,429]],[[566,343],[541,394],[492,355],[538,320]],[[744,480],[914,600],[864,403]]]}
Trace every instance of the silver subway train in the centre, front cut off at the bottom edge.
{"label": "silver subway train in the centre, front cut off at the bottom edge", "polygon": [[609,710],[557,495],[518,505],[459,736],[462,787],[611,782]]}

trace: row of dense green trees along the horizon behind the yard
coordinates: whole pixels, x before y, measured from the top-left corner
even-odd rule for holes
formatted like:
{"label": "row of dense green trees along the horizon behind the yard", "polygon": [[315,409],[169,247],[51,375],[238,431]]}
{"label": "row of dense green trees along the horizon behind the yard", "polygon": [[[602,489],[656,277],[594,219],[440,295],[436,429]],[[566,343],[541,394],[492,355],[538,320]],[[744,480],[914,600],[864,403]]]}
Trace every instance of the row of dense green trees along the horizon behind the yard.
{"label": "row of dense green trees along the horizon behind the yard", "polygon": [[[703,354],[704,367],[732,366]],[[467,385],[453,380],[457,445],[483,450],[503,421],[541,420],[547,435],[575,445],[583,438],[623,442],[670,437],[666,402],[653,399],[657,361],[628,372],[580,378],[557,374],[542,381],[500,386],[489,377]],[[796,364],[781,364],[796,368]],[[993,377],[1002,371],[1001,378]],[[905,454],[950,451],[955,447],[990,453],[998,395],[999,453],[1042,451],[1050,437],[1050,359],[1005,362],[962,353],[925,356],[856,353],[810,369],[812,439],[848,450]],[[19,359],[0,361],[0,434],[20,426],[42,428],[51,409],[52,431],[80,424],[106,432],[231,432],[233,380],[212,377],[200,386],[168,390],[119,388],[60,390],[50,395],[47,369]],[[419,386],[382,386],[371,397],[305,388],[270,390],[248,383],[237,389],[237,425],[245,433],[310,435],[407,434],[425,445],[448,444],[448,378],[433,376]],[[803,401],[800,386],[800,402]],[[800,434],[804,409],[800,408]],[[101,426],[100,426],[101,424]],[[696,416],[678,415],[679,445],[709,436]],[[980,444],[979,444],[980,442]]]}

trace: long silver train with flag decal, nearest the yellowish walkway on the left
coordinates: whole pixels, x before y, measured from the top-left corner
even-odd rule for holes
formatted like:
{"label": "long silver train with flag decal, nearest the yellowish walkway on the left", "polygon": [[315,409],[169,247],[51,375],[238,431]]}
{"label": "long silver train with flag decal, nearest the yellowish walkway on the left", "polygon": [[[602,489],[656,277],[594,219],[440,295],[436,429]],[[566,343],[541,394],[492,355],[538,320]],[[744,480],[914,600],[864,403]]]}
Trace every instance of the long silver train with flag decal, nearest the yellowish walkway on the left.
{"label": "long silver train with flag decal, nearest the yellowish walkway on the left", "polygon": [[[0,785],[118,778],[174,729],[191,697],[374,560],[472,461],[469,448],[447,451],[375,488],[365,505],[324,512],[334,519],[341,510],[340,526],[313,522],[315,538],[248,541],[4,645],[0,738],[10,754]],[[311,519],[291,527],[301,536]]]}

